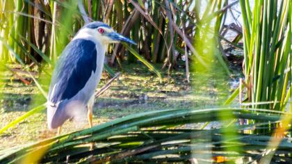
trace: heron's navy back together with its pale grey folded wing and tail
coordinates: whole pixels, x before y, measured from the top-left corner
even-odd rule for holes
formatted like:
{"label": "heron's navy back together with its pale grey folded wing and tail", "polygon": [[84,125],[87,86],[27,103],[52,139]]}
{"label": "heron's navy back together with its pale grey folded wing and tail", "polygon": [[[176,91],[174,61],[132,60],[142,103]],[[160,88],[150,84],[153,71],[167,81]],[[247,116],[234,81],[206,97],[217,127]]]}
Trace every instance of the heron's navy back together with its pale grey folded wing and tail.
{"label": "heron's navy back together with its pale grey folded wing and tail", "polygon": [[[67,119],[83,114],[82,108],[89,100],[88,95],[77,97],[78,101],[72,101],[72,97],[86,87],[96,69],[95,43],[90,40],[72,40],[60,56],[51,79],[47,103],[49,129],[56,129]],[[95,90],[96,86],[88,87]]]}

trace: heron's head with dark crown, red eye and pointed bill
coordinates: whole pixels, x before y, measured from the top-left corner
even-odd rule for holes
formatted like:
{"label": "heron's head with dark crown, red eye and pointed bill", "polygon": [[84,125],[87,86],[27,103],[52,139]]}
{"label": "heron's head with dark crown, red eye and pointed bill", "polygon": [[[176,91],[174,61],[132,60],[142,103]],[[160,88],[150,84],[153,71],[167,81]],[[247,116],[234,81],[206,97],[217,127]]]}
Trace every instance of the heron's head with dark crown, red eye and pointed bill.
{"label": "heron's head with dark crown, red eye and pointed bill", "polygon": [[129,42],[131,44],[136,44],[133,40],[120,35],[113,31],[111,26],[104,24],[103,22],[91,22],[86,24],[81,28],[79,33],[76,35],[77,38],[92,38],[97,42],[103,44],[110,44],[115,42]]}

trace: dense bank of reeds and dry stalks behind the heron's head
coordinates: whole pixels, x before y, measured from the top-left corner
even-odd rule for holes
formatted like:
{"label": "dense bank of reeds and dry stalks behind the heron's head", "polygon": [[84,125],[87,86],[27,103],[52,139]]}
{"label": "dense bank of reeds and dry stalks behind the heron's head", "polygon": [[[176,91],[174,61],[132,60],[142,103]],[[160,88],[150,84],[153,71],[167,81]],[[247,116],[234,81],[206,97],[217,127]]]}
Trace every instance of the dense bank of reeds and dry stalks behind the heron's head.
{"label": "dense bank of reeds and dry stalks behind the heron's head", "polygon": [[[227,1],[226,1],[227,2]],[[79,12],[77,3],[83,4],[85,13]],[[221,1],[210,1],[220,4]],[[197,24],[209,24],[221,15],[196,17],[200,3],[192,1],[1,1],[1,60],[15,61],[20,58],[24,63],[40,65],[42,61],[56,60],[70,38],[83,26],[82,17],[89,21],[99,20],[111,25],[115,30],[131,37],[138,43],[136,51],[143,60],[164,63],[163,67],[175,67],[180,56],[184,55],[184,42],[187,51],[197,56],[193,49],[193,36],[200,32]],[[195,14],[194,14],[195,13]],[[206,12],[205,12],[206,13]],[[184,21],[181,21],[181,18]],[[201,21],[208,19],[208,21]],[[138,23],[137,23],[138,22]],[[197,22],[197,24],[195,24]],[[218,33],[220,29],[211,33]],[[186,37],[184,37],[186,36]],[[9,51],[9,47],[17,54]],[[121,44],[108,47],[111,58],[136,62],[137,59],[127,52]],[[141,60],[141,59],[139,59]],[[202,60],[199,60],[202,61]]]}

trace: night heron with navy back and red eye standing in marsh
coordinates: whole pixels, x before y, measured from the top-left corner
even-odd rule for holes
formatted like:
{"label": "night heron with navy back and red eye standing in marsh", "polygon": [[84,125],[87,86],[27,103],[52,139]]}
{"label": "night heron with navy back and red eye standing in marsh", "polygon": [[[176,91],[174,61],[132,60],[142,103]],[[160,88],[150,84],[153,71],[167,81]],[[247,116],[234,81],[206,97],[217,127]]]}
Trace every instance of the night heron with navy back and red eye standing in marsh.
{"label": "night heron with navy back and red eye standing in marsh", "polygon": [[133,40],[115,32],[103,22],[84,25],[60,54],[51,77],[47,96],[49,130],[60,128],[66,120],[88,117],[92,127],[95,89],[102,76],[108,44]]}

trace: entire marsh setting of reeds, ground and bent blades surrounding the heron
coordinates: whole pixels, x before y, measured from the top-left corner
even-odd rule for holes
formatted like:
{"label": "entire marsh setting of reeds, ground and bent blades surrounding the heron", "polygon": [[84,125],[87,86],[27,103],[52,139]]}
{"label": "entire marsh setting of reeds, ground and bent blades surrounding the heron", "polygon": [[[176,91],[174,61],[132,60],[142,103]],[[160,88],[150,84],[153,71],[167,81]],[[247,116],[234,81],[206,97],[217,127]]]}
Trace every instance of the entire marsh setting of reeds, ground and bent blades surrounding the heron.
{"label": "entire marsh setting of reeds, ground and bent blades surrounding the heron", "polygon": [[[0,163],[292,161],[291,1],[1,0],[0,6],[6,141]],[[22,145],[54,136],[44,114],[51,70],[93,20],[138,43],[108,46],[101,87],[120,78],[96,106],[95,124],[107,123],[76,132],[68,124],[63,136]],[[7,149],[11,144],[18,147]]]}

